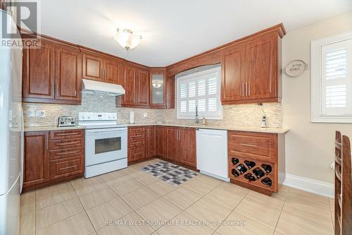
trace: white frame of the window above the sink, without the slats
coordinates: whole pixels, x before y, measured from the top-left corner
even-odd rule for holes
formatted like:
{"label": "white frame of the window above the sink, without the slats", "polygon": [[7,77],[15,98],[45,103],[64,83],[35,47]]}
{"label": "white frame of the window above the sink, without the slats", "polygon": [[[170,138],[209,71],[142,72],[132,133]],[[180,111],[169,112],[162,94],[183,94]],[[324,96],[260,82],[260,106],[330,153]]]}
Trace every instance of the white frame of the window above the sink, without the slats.
{"label": "white frame of the window above the sink, without the slats", "polygon": [[[196,73],[191,73],[185,76],[180,76],[176,78],[176,97],[177,97],[177,102],[176,102],[176,113],[177,113],[177,119],[194,119],[196,112],[192,112],[191,114],[181,114],[180,110],[180,104],[181,104],[181,97],[180,97],[180,83],[184,80],[198,80],[197,77],[200,76],[206,76],[211,73],[218,73],[218,78],[217,78],[217,93],[216,93],[216,98],[218,100],[217,103],[217,110],[218,114],[216,116],[210,115],[209,114],[204,114],[204,112],[198,112],[199,114],[199,119],[202,119],[203,116],[206,119],[210,120],[222,120],[222,104],[221,104],[221,97],[220,97],[220,92],[221,92],[221,66],[215,67],[215,68],[209,68],[204,71],[196,72]],[[208,84],[208,83],[206,83]],[[207,90],[208,88],[206,88]],[[197,93],[198,88],[196,88],[196,93]],[[197,96],[196,96],[197,97]],[[208,95],[206,95],[206,99],[208,99]],[[188,88],[187,88],[187,102],[189,101],[188,98]]]}

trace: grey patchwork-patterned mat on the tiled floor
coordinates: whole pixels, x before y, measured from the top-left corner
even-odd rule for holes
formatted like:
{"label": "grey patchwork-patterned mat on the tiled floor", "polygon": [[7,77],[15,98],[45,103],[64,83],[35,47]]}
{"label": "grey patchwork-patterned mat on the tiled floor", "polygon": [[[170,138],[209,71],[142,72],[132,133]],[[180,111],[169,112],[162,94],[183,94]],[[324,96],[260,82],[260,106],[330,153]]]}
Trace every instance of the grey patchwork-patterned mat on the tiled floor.
{"label": "grey patchwork-patterned mat on the tiled floor", "polygon": [[149,164],[141,169],[174,186],[180,185],[198,175],[196,171],[165,161]]}

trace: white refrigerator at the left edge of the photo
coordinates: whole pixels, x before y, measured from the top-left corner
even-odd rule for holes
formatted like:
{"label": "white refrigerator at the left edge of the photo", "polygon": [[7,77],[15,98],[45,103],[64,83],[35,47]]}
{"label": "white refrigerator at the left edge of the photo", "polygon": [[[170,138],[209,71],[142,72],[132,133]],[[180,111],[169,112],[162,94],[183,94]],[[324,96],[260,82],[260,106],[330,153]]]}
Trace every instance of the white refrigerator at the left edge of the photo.
{"label": "white refrigerator at the left edge of the photo", "polygon": [[[0,10],[17,30],[11,16]],[[1,34],[1,41],[3,39]],[[0,44],[0,235],[17,235],[20,229],[20,191],[23,162],[22,49]]]}

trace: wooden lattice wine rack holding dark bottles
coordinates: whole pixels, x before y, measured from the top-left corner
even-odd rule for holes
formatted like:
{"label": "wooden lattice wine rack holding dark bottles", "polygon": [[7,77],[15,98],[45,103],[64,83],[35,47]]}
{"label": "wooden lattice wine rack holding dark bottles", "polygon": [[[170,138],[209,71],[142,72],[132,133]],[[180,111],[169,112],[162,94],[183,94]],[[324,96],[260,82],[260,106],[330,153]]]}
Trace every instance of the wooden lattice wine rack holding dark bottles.
{"label": "wooden lattice wine rack holding dark bottles", "polygon": [[[270,172],[267,172],[270,166]],[[244,168],[243,168],[244,167]],[[229,155],[229,176],[234,181],[241,181],[247,183],[252,187],[263,188],[269,191],[276,191],[277,179],[275,174],[275,163],[265,162],[250,157],[238,157],[235,155]],[[239,169],[238,169],[239,168]],[[242,172],[241,172],[241,169]],[[263,174],[258,174],[262,171]],[[237,172],[237,174],[235,173]],[[235,176],[236,174],[237,176]],[[265,185],[262,181],[271,181],[270,185]]]}

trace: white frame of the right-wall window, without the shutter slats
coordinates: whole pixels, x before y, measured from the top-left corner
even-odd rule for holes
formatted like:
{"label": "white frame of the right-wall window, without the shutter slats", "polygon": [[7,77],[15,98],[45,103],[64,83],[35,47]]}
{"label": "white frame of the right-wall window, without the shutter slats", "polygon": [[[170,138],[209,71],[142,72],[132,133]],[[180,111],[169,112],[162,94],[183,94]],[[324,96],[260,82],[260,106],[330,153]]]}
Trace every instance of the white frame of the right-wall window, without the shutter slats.
{"label": "white frame of the right-wall window, without the shutter slats", "polygon": [[[352,40],[352,31],[310,42],[310,122],[312,123],[352,123],[352,114],[322,114],[322,47],[346,40]],[[352,76],[352,71],[348,74]],[[352,84],[348,88],[352,88]],[[352,90],[347,92],[347,95],[351,100]]]}

